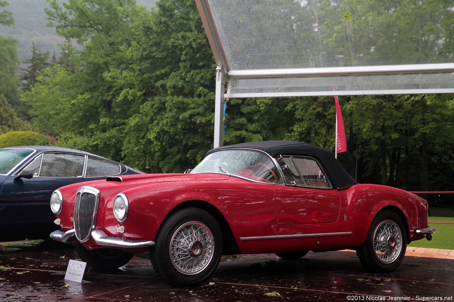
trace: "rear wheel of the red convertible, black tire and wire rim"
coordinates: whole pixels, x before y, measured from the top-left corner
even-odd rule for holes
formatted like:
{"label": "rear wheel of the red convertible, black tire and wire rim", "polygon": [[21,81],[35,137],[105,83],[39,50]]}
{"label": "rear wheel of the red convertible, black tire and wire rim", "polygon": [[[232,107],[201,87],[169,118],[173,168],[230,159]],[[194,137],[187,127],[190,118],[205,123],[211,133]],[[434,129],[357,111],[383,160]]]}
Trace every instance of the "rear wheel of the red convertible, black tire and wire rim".
{"label": "rear wheel of the red convertible, black tire and wire rim", "polygon": [[394,211],[381,211],[370,225],[364,244],[357,250],[361,264],[375,273],[389,273],[399,267],[407,247],[402,218]]}

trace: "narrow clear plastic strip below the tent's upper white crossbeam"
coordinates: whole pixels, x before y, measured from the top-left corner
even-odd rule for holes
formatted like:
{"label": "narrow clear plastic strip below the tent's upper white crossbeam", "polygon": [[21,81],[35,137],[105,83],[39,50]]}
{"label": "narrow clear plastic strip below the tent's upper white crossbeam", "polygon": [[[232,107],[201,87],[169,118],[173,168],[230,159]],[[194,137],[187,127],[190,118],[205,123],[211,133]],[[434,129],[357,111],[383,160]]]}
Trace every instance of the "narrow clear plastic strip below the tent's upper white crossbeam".
{"label": "narrow clear plastic strip below the tent's upper white crossbeam", "polygon": [[229,97],[328,96],[453,92],[454,74],[260,77],[231,80]]}

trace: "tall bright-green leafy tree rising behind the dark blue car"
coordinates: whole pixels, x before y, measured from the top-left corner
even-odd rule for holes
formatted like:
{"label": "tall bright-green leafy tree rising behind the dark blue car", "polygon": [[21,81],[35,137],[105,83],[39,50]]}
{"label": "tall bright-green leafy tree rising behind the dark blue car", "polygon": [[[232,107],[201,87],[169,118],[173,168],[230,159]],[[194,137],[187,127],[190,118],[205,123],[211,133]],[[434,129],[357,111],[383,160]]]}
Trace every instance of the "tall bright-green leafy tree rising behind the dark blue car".
{"label": "tall bright-green leafy tree rising behind the dark blue car", "polygon": [[[138,112],[141,100],[123,97],[115,80],[106,74],[127,72],[132,24],[147,11],[132,0],[75,0],[62,6],[49,1],[49,6],[49,24],[65,38],[77,39],[84,48],[76,51],[66,43],[64,61],[44,72],[24,100],[34,107],[39,129],[49,134],[66,133],[65,138],[87,136],[91,151],[120,160],[125,120]],[[54,101],[47,102],[40,93],[56,95],[51,98]],[[44,120],[43,116],[52,117]],[[63,123],[55,124],[56,119]]]}

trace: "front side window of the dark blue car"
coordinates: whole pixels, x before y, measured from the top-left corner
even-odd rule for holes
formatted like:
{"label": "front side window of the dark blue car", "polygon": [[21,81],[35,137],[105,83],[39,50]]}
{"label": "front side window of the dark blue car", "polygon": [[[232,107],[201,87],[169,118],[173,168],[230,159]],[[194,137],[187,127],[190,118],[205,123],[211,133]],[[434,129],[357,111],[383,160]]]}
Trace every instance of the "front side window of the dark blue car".
{"label": "front side window of the dark blue car", "polygon": [[44,153],[39,176],[77,177],[84,171],[84,155]]}

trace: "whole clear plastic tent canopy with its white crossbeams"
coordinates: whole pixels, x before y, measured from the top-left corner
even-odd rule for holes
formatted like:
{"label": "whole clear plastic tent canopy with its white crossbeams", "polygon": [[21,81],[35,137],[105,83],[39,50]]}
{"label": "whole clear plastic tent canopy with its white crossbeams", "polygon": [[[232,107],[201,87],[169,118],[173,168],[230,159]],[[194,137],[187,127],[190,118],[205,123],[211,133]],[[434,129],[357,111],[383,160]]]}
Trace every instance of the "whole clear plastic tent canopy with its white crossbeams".
{"label": "whole clear plastic tent canopy with its white crossbeams", "polygon": [[227,98],[454,92],[452,0],[196,3]]}

